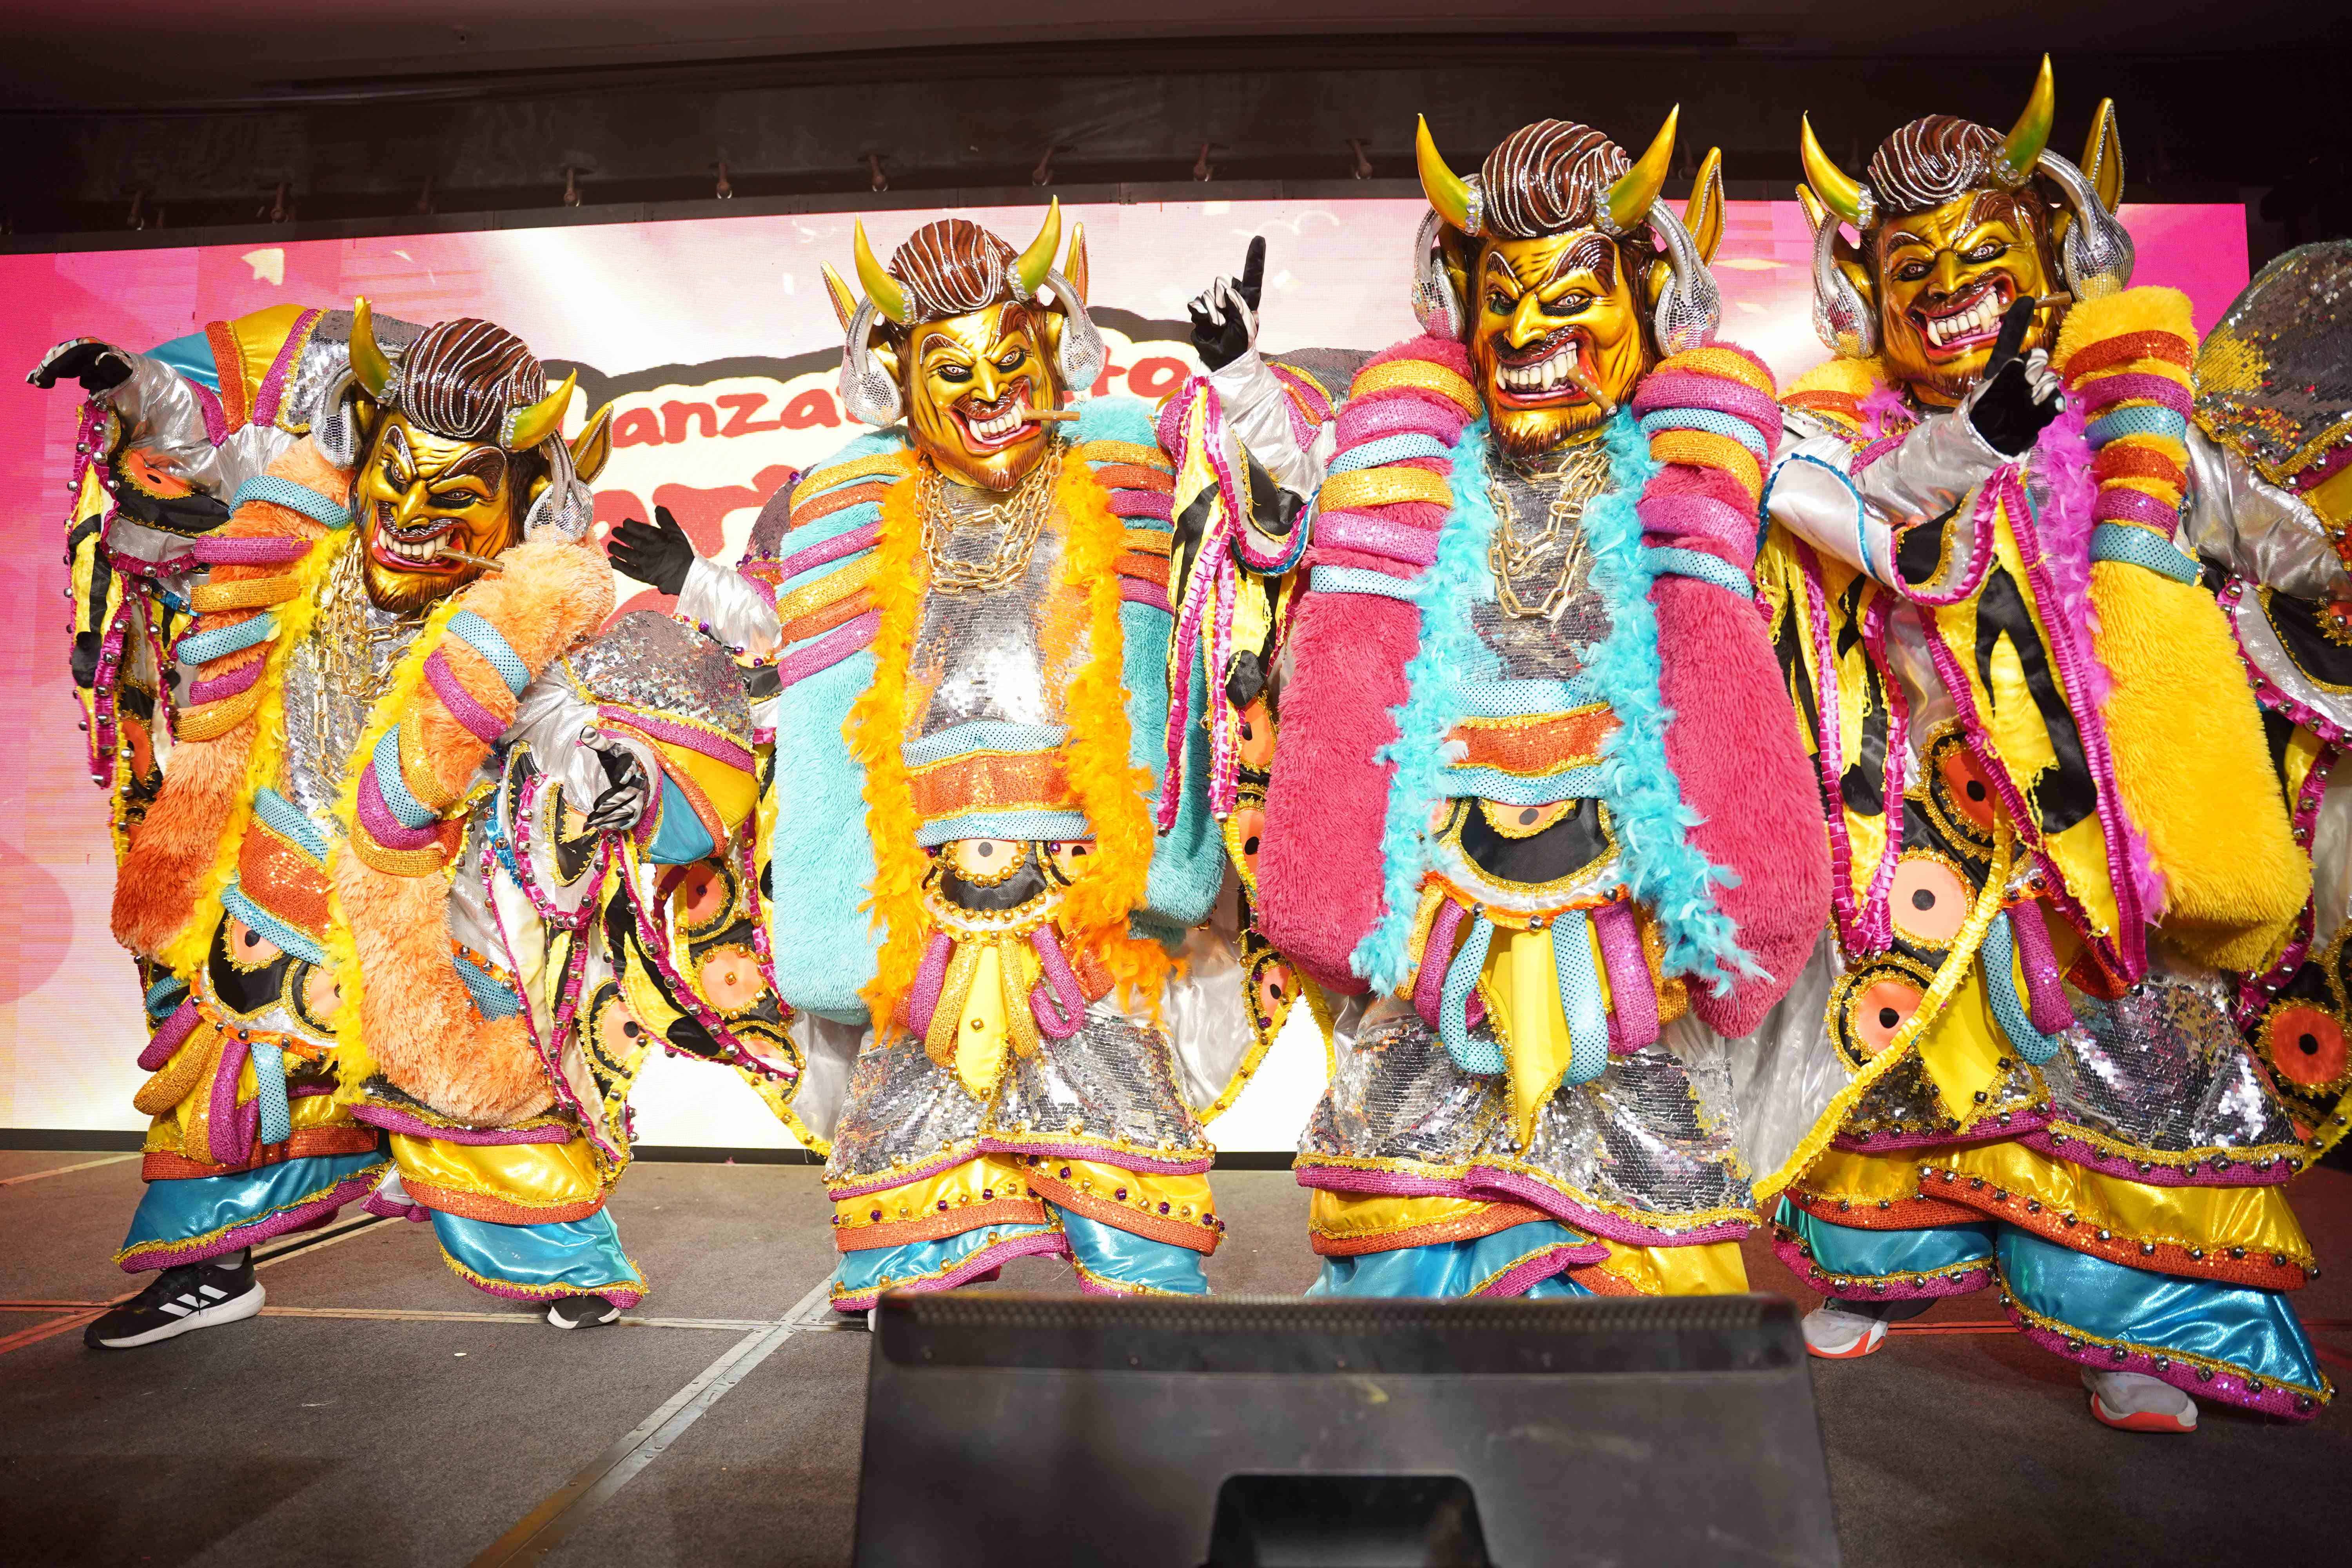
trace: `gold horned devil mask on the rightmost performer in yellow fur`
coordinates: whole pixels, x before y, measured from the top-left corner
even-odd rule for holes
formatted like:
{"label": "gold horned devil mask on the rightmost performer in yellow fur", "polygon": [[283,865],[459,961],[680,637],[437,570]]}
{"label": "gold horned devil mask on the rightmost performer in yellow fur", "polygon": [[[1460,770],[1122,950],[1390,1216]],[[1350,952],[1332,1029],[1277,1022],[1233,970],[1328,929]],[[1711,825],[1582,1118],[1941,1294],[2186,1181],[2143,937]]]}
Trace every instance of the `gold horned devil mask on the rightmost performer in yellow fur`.
{"label": "gold horned devil mask on the rightmost performer in yellow fur", "polygon": [[[1919,402],[1950,407],[1976,386],[2002,313],[2020,299],[2046,301],[2025,346],[2056,343],[2070,289],[2058,244],[2072,214],[2037,188],[2037,172],[2086,181],[2103,207],[2098,216],[2112,221],[2105,214],[2122,200],[2124,183],[2114,106],[2100,103],[2082,169],[2046,158],[2053,108],[2044,59],[2025,113],[2006,136],[1955,115],[1912,120],[1879,143],[1867,183],[1830,162],[1811,122],[1804,125],[1806,183],[1797,195],[1806,214],[1820,223],[1828,209],[1830,223],[1853,223],[1863,237],[1860,247],[1842,235],[1832,240],[1849,308],[1870,320],[1867,331],[1839,348],[1875,350],[1889,381]],[[1837,292],[1837,277],[1816,275],[1816,289],[1823,287]],[[1837,303],[1825,315],[1835,320]]]}

